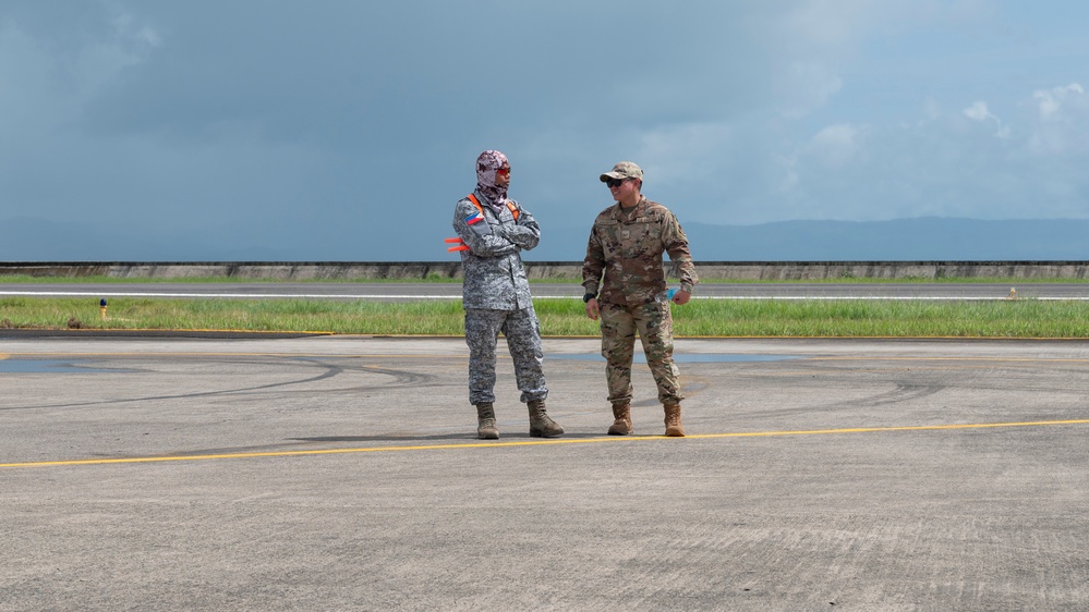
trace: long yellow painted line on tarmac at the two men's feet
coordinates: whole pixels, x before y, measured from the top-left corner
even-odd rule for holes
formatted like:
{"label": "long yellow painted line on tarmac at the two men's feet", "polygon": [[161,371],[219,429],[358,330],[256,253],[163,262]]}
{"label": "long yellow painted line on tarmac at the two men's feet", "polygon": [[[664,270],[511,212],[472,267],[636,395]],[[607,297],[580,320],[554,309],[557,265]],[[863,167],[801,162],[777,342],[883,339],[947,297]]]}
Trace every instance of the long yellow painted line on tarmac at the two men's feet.
{"label": "long yellow painted line on tarmac at the two men's feet", "polygon": [[209,461],[228,458],[255,458],[255,457],[291,457],[311,455],[342,455],[349,453],[380,453],[396,451],[438,451],[438,450],[461,450],[461,449],[484,449],[484,448],[508,448],[508,446],[541,446],[546,444],[593,444],[602,442],[636,442],[636,441],[661,441],[661,440],[706,440],[716,438],[767,438],[776,436],[825,436],[839,433],[873,433],[892,431],[941,431],[953,429],[992,429],[1002,427],[1048,427],[1060,425],[1089,425],[1089,419],[1070,420],[1034,420],[1024,423],[979,423],[979,424],[953,424],[953,425],[916,425],[903,427],[855,427],[846,429],[810,429],[797,431],[747,431],[735,433],[697,433],[685,438],[666,438],[665,436],[613,436],[586,439],[549,439],[549,440],[525,440],[519,442],[465,442],[460,444],[427,444],[414,446],[375,446],[365,449],[325,449],[314,451],[269,451],[263,453],[223,453],[214,455],[169,455],[128,458],[95,458],[95,460],[69,460],[69,461],[41,461],[25,463],[0,463],[2,467],[60,467],[74,465],[110,465],[128,463],[165,463],[174,461]]}

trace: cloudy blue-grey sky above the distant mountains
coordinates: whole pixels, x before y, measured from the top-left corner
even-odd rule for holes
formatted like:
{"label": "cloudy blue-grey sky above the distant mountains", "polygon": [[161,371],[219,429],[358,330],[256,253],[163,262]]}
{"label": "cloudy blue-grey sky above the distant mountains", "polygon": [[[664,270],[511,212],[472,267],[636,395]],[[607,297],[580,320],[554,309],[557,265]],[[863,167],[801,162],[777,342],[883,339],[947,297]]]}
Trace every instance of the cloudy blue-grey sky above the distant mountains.
{"label": "cloudy blue-grey sky above the distant mountains", "polygon": [[539,260],[582,258],[549,233],[584,243],[620,160],[682,224],[1089,219],[1087,23],[1074,0],[5,0],[0,260],[445,260],[493,148]]}

